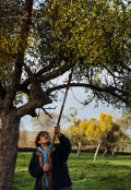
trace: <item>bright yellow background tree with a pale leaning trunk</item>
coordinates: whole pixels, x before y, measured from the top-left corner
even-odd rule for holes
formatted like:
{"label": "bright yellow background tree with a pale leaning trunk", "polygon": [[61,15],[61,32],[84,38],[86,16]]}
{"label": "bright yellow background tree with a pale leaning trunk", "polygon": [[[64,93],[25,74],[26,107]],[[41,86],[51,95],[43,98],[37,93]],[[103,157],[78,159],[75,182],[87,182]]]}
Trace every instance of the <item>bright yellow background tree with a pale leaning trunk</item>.
{"label": "bright yellow background tree with a pale leaning trunk", "polygon": [[99,114],[99,119],[100,120],[97,121],[95,118],[92,118],[86,130],[86,138],[90,138],[98,144],[94,155],[94,162],[96,162],[98,150],[102,145],[106,146],[106,152],[107,149],[112,149],[114,154],[114,145],[118,140],[118,135],[115,132],[118,131],[119,128],[112,123],[112,117],[102,112]]}

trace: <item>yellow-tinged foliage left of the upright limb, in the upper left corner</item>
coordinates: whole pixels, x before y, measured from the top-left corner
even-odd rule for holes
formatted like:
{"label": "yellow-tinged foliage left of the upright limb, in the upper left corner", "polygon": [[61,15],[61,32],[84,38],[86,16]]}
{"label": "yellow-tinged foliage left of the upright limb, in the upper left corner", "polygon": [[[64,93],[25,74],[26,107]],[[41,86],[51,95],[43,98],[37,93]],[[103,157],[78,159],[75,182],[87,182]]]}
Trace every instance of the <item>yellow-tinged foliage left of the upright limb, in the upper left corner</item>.
{"label": "yellow-tinged foliage left of the upright limb, in the upper left corner", "polygon": [[23,15],[23,0],[5,0],[0,2],[0,81],[4,81],[4,85],[9,84],[20,37],[20,29]]}

